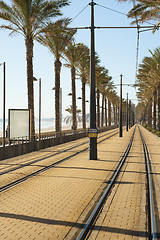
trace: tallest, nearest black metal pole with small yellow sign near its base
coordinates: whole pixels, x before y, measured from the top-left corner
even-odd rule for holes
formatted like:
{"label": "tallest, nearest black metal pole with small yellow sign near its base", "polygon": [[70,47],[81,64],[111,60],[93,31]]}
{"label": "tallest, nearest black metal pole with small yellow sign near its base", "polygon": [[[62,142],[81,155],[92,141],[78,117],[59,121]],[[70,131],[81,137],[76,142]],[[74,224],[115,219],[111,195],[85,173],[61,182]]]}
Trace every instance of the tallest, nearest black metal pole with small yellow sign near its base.
{"label": "tallest, nearest black metal pole with small yellow sign near its base", "polygon": [[[96,128],[96,95],[95,95],[95,43],[94,43],[94,5],[93,0],[91,5],[91,57],[90,57],[90,129],[93,132]],[[96,134],[95,134],[96,135]],[[89,159],[97,160],[97,136],[90,137],[89,143]]]}

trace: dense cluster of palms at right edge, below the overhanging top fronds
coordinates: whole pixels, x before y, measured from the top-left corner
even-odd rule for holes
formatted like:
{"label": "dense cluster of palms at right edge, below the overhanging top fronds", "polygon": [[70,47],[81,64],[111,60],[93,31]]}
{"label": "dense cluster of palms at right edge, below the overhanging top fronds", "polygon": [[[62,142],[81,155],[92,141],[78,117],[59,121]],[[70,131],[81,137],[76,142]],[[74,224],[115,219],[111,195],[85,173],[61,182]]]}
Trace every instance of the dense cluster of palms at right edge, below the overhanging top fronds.
{"label": "dense cluster of palms at right edge, below the overhanging top fronds", "polygon": [[149,52],[150,57],[144,57],[137,74],[137,114],[143,123],[147,121],[149,127],[153,123],[153,128],[160,131],[160,48]]}

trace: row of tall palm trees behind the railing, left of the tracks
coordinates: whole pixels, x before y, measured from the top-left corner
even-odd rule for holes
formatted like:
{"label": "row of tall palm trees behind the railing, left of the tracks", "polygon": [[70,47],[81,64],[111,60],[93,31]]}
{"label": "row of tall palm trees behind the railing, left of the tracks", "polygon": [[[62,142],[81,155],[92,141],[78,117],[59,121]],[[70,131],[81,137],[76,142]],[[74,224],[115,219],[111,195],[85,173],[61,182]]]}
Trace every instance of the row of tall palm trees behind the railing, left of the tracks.
{"label": "row of tall palm trees behind the railing, left of the tracks", "polygon": [[[27,61],[27,88],[28,88],[28,108],[31,109],[31,135],[35,133],[34,125],[34,89],[33,89],[33,49],[34,41],[38,41],[47,47],[55,59],[55,129],[61,132],[60,123],[60,73],[62,59],[65,59],[66,67],[71,70],[72,83],[72,113],[73,130],[77,129],[76,119],[76,75],[82,82],[82,123],[86,128],[86,108],[85,108],[85,87],[89,84],[90,53],[89,48],[82,43],[75,43],[76,31],[69,28],[71,19],[62,18],[53,22],[53,18],[62,15],[61,8],[68,6],[68,0],[12,0],[11,4],[0,1],[0,18],[4,20],[1,28],[5,28],[12,33],[23,35],[26,45]],[[99,65],[100,60],[96,55],[96,86],[97,86],[97,126],[111,125],[111,102],[113,103],[114,115],[118,104],[118,97],[113,87],[112,77],[108,75],[108,70]],[[102,94],[102,118],[100,123],[100,94]],[[108,117],[107,100],[108,98]],[[105,105],[105,107],[104,107]],[[115,117],[117,122],[117,118]]]}

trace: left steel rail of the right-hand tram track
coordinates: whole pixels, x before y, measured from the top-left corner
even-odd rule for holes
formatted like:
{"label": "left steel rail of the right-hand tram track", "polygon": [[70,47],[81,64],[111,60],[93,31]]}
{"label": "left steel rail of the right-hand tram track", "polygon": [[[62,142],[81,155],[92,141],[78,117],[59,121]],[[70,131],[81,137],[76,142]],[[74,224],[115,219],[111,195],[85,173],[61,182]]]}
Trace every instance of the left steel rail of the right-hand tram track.
{"label": "left steel rail of the right-hand tram track", "polygon": [[105,190],[104,194],[102,195],[100,201],[98,202],[97,207],[95,208],[95,210],[91,214],[90,218],[88,219],[88,221],[87,221],[87,223],[86,223],[82,233],[80,234],[78,240],[84,240],[86,238],[86,236],[88,235],[89,231],[92,228],[92,225],[93,225],[94,221],[97,218],[98,213],[102,209],[102,207],[104,205],[104,202],[105,202],[108,194],[110,193],[110,191],[111,191],[111,189],[112,189],[112,187],[113,187],[113,185],[115,183],[115,180],[117,179],[117,177],[118,177],[118,175],[120,173],[120,170],[121,170],[121,168],[122,168],[122,166],[123,166],[123,164],[124,164],[124,162],[125,162],[125,160],[126,160],[126,158],[128,156],[128,153],[129,153],[129,151],[131,149],[131,146],[132,146],[132,143],[133,143],[134,134],[135,134],[135,130],[136,130],[136,127],[135,127],[135,129],[133,131],[131,140],[130,140],[127,148],[126,148],[126,151],[125,151],[124,155],[122,156],[122,159],[121,159],[117,169],[115,170],[115,173],[114,173],[114,175],[113,175],[113,177],[112,177],[112,179],[110,181],[110,184],[108,185],[108,187]]}

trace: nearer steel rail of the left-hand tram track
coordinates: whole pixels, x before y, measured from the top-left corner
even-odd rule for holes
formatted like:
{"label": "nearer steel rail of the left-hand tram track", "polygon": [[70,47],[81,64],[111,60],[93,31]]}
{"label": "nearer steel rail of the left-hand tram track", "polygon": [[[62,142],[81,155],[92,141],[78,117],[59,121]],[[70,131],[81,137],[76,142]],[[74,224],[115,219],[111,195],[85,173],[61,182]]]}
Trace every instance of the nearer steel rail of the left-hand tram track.
{"label": "nearer steel rail of the left-hand tram track", "polygon": [[[105,139],[102,139],[101,141],[98,142],[98,144],[101,143],[101,142],[103,142],[103,141],[105,141],[106,139],[109,139],[109,138],[113,137],[113,136],[116,135],[117,133],[118,133],[118,131],[117,131],[116,133],[112,134],[111,136],[106,137]],[[108,134],[106,134],[106,135],[108,135]],[[101,137],[104,137],[104,136],[105,136],[105,135],[103,135],[103,136],[101,136]],[[20,183],[28,180],[29,178],[31,178],[31,177],[33,177],[33,176],[36,176],[36,175],[38,175],[38,174],[40,174],[40,173],[42,173],[42,172],[44,172],[44,171],[47,171],[47,170],[55,167],[56,165],[59,165],[60,163],[66,161],[66,160],[68,160],[68,159],[70,159],[70,158],[72,158],[72,157],[74,157],[74,156],[76,156],[76,155],[78,155],[78,154],[80,154],[80,153],[82,153],[82,152],[85,152],[87,149],[88,149],[88,147],[82,149],[82,150],[79,151],[79,152],[73,153],[72,155],[70,155],[70,156],[68,156],[68,157],[65,157],[65,158],[63,158],[63,159],[61,159],[61,160],[59,160],[59,161],[57,161],[57,162],[55,162],[55,163],[53,163],[53,164],[51,164],[51,165],[48,165],[48,166],[46,166],[46,167],[43,167],[43,168],[40,169],[40,170],[37,170],[37,171],[35,171],[35,172],[31,173],[31,174],[28,174],[27,176],[25,176],[25,177],[23,177],[23,178],[20,178],[20,179],[18,179],[18,180],[15,180],[14,182],[11,182],[11,183],[9,183],[9,184],[1,187],[1,188],[0,188],[0,193],[2,193],[3,191],[8,190],[9,188],[14,187],[14,186],[16,186],[16,185],[18,185],[18,184],[20,184]],[[51,156],[50,156],[50,157],[51,157]],[[49,156],[46,157],[46,158],[49,158]],[[44,158],[44,159],[45,159],[45,158]]]}

